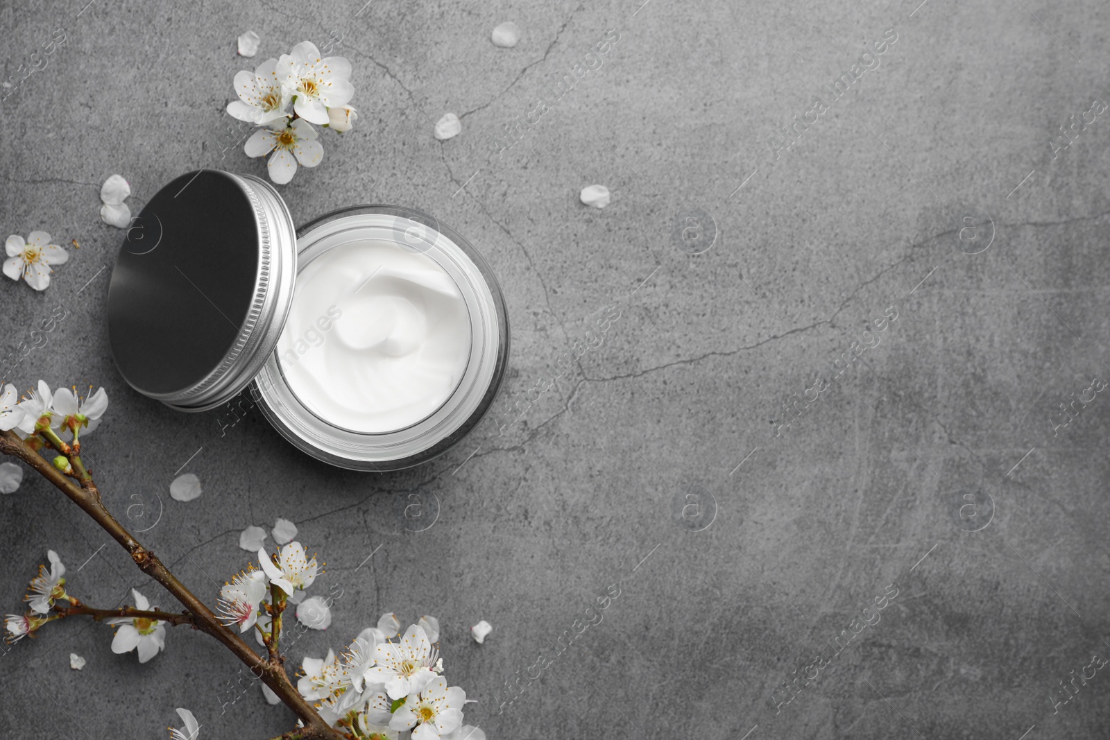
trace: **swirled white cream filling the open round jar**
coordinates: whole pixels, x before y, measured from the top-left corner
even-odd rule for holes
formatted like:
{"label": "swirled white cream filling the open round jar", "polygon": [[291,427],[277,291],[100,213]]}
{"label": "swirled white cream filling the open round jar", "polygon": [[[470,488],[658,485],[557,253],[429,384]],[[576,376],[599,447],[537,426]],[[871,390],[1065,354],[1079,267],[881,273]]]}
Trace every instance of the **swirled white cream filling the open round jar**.
{"label": "swirled white cream filling the open round jar", "polygon": [[316,416],[384,434],[427,418],[455,392],[471,318],[458,285],[428,255],[362,239],[303,266],[275,354]]}

